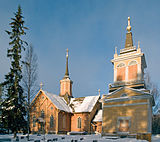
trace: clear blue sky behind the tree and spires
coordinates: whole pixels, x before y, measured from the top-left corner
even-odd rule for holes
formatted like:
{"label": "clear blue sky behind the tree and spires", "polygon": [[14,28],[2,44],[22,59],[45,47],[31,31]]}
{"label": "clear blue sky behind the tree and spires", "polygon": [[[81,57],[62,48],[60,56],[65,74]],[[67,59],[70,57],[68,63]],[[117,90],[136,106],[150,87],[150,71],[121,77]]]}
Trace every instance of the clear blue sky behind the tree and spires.
{"label": "clear blue sky behind the tree and spires", "polygon": [[38,55],[38,82],[59,94],[69,49],[69,72],[74,97],[108,93],[113,83],[114,48],[124,48],[127,17],[134,45],[145,53],[147,72],[160,86],[160,1],[147,0],[0,0],[0,81],[9,71],[6,58],[9,22],[22,7],[27,42]]}

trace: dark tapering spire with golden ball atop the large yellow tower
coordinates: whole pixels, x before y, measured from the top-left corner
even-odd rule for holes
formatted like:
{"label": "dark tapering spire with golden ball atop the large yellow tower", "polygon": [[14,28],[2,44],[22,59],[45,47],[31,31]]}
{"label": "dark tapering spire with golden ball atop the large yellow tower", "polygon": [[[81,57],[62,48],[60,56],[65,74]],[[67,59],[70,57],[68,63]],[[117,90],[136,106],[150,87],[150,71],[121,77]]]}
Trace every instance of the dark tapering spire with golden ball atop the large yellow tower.
{"label": "dark tapering spire with golden ball atop the large yellow tower", "polygon": [[128,32],[126,33],[125,48],[132,47],[132,46],[133,46],[132,32],[131,32],[131,24],[130,24],[130,17],[128,17],[127,31],[128,31]]}

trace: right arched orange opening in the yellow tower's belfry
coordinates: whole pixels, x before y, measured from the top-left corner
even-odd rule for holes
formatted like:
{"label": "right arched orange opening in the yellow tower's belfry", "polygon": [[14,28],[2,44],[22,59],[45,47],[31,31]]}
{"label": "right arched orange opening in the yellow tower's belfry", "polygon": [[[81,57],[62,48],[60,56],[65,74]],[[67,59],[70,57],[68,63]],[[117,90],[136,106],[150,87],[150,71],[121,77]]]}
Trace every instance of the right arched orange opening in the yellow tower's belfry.
{"label": "right arched orange opening in the yellow tower's belfry", "polygon": [[128,64],[128,80],[129,81],[132,81],[132,80],[137,80],[137,62],[134,60],[134,61],[131,61],[129,62]]}

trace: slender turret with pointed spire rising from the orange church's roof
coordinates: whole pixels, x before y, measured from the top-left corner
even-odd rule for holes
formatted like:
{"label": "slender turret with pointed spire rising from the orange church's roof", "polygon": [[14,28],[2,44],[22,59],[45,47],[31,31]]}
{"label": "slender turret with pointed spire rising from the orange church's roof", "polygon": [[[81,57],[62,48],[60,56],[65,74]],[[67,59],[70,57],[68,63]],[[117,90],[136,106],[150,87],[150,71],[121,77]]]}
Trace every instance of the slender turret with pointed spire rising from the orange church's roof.
{"label": "slender turret with pointed spire rising from the orange church's roof", "polygon": [[69,78],[68,70],[68,49],[66,53],[66,72],[62,80],[60,80],[60,96],[69,96],[72,97],[72,84],[73,81]]}

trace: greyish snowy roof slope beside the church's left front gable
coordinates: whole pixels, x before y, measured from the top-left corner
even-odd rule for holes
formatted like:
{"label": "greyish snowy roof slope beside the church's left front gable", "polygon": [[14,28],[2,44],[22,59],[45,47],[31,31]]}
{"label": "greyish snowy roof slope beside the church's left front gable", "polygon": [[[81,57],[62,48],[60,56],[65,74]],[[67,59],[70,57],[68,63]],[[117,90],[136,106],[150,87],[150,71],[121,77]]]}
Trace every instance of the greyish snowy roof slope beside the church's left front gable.
{"label": "greyish snowy roof slope beside the church's left front gable", "polygon": [[63,110],[65,112],[72,112],[72,109],[67,105],[63,97],[48,93],[47,91],[43,92],[52,101],[52,103],[56,106],[56,108],[58,108],[59,110]]}

